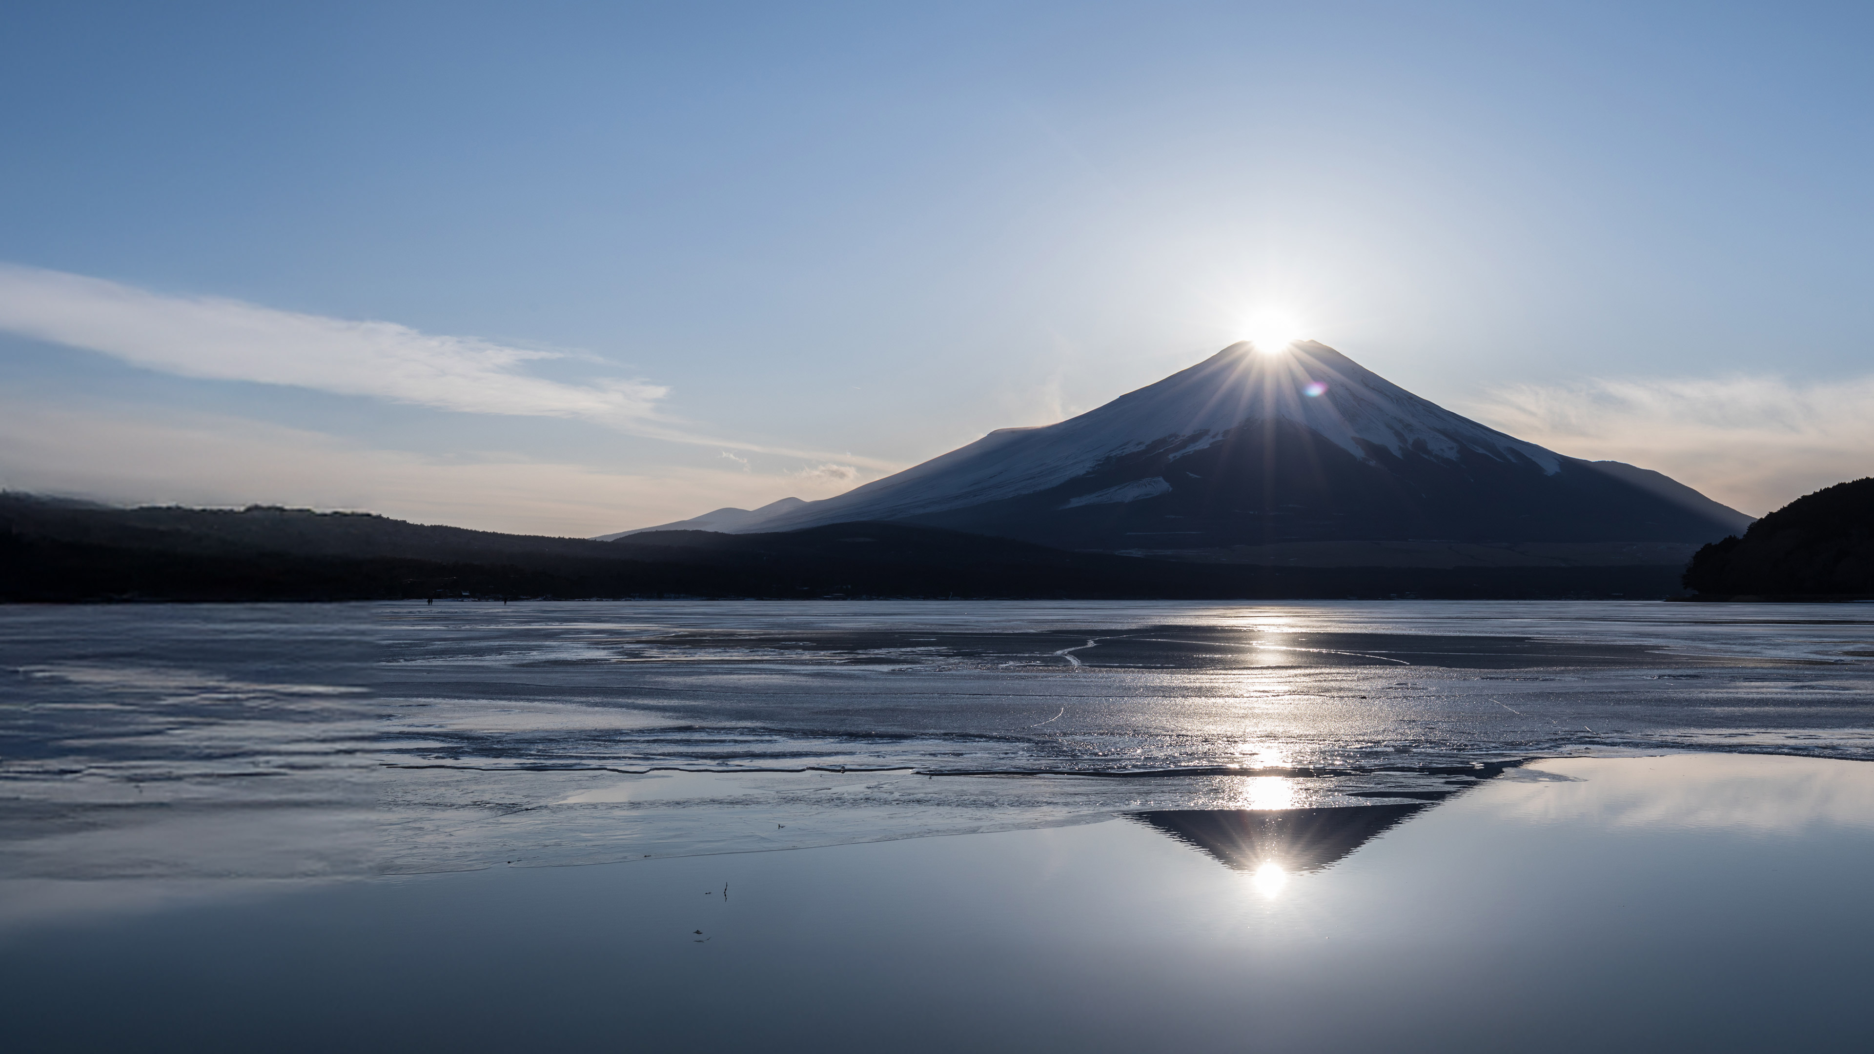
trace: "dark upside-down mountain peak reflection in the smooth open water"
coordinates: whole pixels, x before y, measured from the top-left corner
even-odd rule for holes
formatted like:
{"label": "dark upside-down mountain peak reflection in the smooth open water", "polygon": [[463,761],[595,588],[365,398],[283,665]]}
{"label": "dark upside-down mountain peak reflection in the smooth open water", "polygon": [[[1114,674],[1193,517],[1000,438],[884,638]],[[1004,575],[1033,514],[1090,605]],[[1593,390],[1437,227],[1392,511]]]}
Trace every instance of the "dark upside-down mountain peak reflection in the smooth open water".
{"label": "dark upside-down mountain peak reflection in the smooth open water", "polygon": [[1430,805],[1338,808],[1168,808],[1132,818],[1203,850],[1235,870],[1276,865],[1287,874],[1321,870]]}

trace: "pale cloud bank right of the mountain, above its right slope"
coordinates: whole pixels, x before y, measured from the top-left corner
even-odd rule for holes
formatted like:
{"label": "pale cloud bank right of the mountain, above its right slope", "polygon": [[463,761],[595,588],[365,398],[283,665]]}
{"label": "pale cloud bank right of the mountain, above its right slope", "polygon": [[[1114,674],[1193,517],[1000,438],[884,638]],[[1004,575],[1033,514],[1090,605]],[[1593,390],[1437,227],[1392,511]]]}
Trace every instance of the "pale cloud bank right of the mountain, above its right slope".
{"label": "pale cloud bank right of the mountain, above its right slope", "polygon": [[1874,474],[1874,377],[1514,384],[1464,413],[1574,458],[1657,469],[1750,514]]}

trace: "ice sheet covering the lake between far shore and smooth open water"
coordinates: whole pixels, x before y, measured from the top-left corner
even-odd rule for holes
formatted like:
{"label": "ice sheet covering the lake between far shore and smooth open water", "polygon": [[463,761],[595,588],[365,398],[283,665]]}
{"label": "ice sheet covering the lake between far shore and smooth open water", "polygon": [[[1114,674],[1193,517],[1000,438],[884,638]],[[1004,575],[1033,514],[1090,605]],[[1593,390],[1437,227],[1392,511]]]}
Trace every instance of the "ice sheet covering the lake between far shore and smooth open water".
{"label": "ice sheet covering the lake between far shore and smooth open water", "polygon": [[4,880],[1434,801],[1576,754],[1874,758],[1861,604],[15,606],[0,668]]}

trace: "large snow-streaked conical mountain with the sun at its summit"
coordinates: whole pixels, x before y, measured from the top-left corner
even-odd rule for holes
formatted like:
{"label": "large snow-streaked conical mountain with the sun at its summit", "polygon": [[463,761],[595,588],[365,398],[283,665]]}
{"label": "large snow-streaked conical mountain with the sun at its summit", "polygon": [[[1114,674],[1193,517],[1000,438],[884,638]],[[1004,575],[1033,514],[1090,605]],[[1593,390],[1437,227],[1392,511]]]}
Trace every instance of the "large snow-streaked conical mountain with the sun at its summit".
{"label": "large snow-streaked conical mountain with the sun at its summit", "polygon": [[1235,343],[1059,424],[997,429],[825,501],[725,512],[740,510],[712,512],[716,531],[900,521],[1218,559],[1302,542],[1540,542],[1673,544],[1683,561],[1750,523],[1664,474],[1458,416],[1314,341]]}

